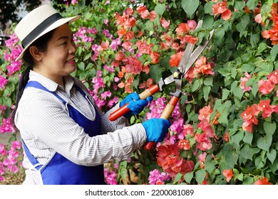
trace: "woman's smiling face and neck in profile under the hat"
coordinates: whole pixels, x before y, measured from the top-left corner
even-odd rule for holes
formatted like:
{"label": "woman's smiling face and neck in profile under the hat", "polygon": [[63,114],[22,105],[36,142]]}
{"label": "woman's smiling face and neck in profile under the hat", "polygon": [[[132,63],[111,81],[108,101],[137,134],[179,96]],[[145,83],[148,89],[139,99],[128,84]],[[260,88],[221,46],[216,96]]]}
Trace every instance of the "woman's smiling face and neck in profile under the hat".
{"label": "woman's smiling face and neck in profile under the hat", "polygon": [[63,86],[63,77],[76,70],[76,44],[68,23],[56,28],[46,51],[35,54],[34,71]]}

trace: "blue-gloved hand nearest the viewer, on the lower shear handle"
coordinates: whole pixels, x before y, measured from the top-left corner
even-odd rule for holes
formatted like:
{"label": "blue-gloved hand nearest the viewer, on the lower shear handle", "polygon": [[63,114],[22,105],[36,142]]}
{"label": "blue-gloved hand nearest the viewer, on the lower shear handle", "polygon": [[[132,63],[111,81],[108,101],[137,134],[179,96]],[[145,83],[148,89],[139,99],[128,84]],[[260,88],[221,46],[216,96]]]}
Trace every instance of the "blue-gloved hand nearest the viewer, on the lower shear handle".
{"label": "blue-gloved hand nearest the viewer, on the lower shear handle", "polygon": [[142,124],[147,134],[147,141],[155,142],[163,141],[171,126],[170,120],[163,118],[152,118]]}

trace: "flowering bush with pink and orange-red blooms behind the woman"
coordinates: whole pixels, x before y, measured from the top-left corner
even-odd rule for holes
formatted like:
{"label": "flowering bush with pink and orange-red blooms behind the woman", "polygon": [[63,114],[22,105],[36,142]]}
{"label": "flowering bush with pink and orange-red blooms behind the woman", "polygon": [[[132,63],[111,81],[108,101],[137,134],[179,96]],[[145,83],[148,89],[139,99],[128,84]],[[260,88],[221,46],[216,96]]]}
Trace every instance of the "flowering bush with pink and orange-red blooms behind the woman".
{"label": "flowering bush with pink and orange-red blooms behind the woman", "polygon": [[[139,4],[140,3],[140,4]],[[109,184],[277,184],[278,14],[271,1],[99,1],[59,5],[78,45],[77,70],[105,112],[130,92],[143,92],[177,68],[187,43],[209,48],[183,79],[168,136],[105,167]],[[203,20],[202,28],[197,21]],[[16,130],[9,114],[21,64],[11,35],[1,50],[1,133]],[[175,87],[168,85],[135,124],[160,117]],[[116,166],[115,166],[116,165]],[[1,175],[1,173],[0,173]]]}

